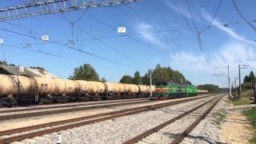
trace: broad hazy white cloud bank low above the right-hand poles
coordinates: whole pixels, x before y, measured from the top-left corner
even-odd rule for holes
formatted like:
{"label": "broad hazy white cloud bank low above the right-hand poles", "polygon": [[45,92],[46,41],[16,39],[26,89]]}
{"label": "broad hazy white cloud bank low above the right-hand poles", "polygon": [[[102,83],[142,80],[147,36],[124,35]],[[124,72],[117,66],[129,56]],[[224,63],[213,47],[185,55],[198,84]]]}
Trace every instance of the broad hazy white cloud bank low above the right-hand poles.
{"label": "broad hazy white cloud bank low above the right-hand poles", "polygon": [[[216,74],[219,70],[214,70],[206,62],[206,58],[202,54],[195,54],[194,52],[180,51],[170,55],[171,65],[177,65],[179,70],[187,71],[205,71],[206,73]],[[232,74],[238,71],[238,64],[247,64],[250,70],[256,70],[256,48],[243,42],[229,42],[223,45],[213,57],[210,62],[214,66],[220,66],[222,71],[223,66],[230,65]]]}

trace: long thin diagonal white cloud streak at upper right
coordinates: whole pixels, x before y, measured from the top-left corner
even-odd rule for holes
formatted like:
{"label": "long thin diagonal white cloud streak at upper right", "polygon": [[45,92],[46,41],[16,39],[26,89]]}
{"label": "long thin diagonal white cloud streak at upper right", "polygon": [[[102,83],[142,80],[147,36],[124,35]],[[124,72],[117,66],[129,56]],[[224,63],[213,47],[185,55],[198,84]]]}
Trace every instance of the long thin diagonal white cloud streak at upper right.
{"label": "long thin diagonal white cloud streak at upper right", "polygon": [[[211,22],[212,17],[210,16],[210,14],[206,13],[205,10],[202,10],[202,17],[206,18],[206,20],[208,22]],[[230,27],[226,27],[226,26],[218,26],[218,25],[223,25],[222,22],[220,22],[218,20],[218,18],[214,19],[214,22],[212,23],[212,25],[216,25],[218,27],[219,30],[222,30],[223,32],[225,32],[226,34],[230,35],[231,38],[234,38],[238,41],[241,42],[246,42],[246,43],[250,43],[253,44],[254,42],[242,37],[241,35],[237,34],[233,29],[231,29]]]}

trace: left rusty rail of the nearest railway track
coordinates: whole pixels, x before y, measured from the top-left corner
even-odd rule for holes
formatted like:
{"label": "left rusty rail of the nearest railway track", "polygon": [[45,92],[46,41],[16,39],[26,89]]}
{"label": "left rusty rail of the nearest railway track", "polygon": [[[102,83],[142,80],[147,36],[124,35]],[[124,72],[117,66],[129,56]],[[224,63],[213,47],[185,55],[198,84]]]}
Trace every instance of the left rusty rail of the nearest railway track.
{"label": "left rusty rail of the nearest railway track", "polygon": [[[221,97],[217,97],[217,98],[220,99],[220,98],[222,98],[222,96],[221,96]],[[160,124],[160,125],[158,125],[158,126],[155,126],[154,128],[152,128],[152,129],[150,129],[150,130],[146,130],[144,133],[139,134],[139,135],[135,136],[134,138],[129,139],[129,140],[126,141],[126,142],[123,142],[123,144],[132,144],[132,143],[138,142],[138,141],[142,140],[142,138],[146,138],[146,137],[149,136],[150,134],[153,134],[153,133],[157,132],[158,130],[161,130],[163,127],[169,125],[170,123],[175,122],[175,121],[177,121],[178,119],[180,119],[180,118],[186,116],[186,114],[190,114],[190,113],[193,112],[194,110],[198,110],[200,107],[205,106],[207,103],[214,101],[214,99],[216,99],[216,98],[212,98],[212,99],[210,99],[210,101],[204,102],[204,103],[202,103],[201,105],[196,106],[196,107],[194,107],[193,109],[188,110],[188,111],[186,111],[186,112],[184,112],[184,113],[178,115],[178,116],[175,117],[175,118],[171,118],[171,119],[170,119],[169,121],[167,121],[167,122],[163,122],[162,124]],[[218,100],[219,100],[219,99],[218,99]],[[217,102],[218,102],[218,101],[217,101]],[[216,102],[216,103],[217,103],[217,102]],[[215,105],[216,105],[216,104],[214,104],[214,106],[215,106]],[[211,106],[211,107],[214,107],[214,106]],[[208,110],[207,110],[207,111],[208,111]],[[201,120],[201,119],[200,119],[200,120]]]}

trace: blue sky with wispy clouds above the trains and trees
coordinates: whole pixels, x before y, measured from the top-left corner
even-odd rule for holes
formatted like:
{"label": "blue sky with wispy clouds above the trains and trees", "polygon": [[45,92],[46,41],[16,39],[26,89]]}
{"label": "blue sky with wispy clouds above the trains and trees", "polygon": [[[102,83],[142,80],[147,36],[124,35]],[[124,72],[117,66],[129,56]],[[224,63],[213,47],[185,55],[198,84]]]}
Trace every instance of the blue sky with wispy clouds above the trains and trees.
{"label": "blue sky with wispy clouds above the trains and trees", "polygon": [[[23,2],[27,1],[2,0],[0,7],[14,6]],[[174,0],[174,2],[178,9],[171,0],[147,0],[128,6],[89,9],[74,26],[74,39],[78,39],[74,44],[68,42],[73,40],[70,22],[80,18],[84,10],[7,21],[13,25],[0,22],[0,27],[6,30],[33,35],[36,38],[48,34],[51,41],[62,41],[62,45],[37,44],[42,41],[0,30],[0,38],[4,39],[6,45],[40,50],[72,60],[4,45],[0,46],[0,59],[16,65],[42,66],[61,78],[68,78],[73,73],[74,67],[82,63],[90,63],[100,77],[110,82],[118,82],[124,74],[133,75],[135,70],[139,70],[141,75],[144,75],[148,69],[154,68],[158,63],[179,70],[195,85],[213,83],[226,86],[226,77],[217,77],[214,74],[220,74],[219,69],[226,72],[224,66],[228,64],[230,64],[231,80],[238,77],[238,64],[250,65],[246,70],[242,70],[243,75],[250,70],[256,70],[255,31],[242,21],[234,10],[231,0],[222,0],[217,17],[212,23],[218,26],[210,27],[201,34],[206,57],[209,58],[212,66],[202,54],[194,38],[195,33],[188,30],[186,22],[179,13],[184,15],[191,27],[194,27],[193,21],[198,27],[208,26],[219,1]],[[256,1],[236,0],[236,2],[246,19],[256,19]],[[230,22],[242,23],[219,26]],[[129,38],[92,40],[92,38],[120,35],[116,30],[118,26],[126,26],[126,34],[137,35]],[[167,32],[152,33],[158,30]],[[64,45],[74,46],[75,49],[96,54],[101,58],[70,50]],[[218,69],[214,66],[218,66]]]}

